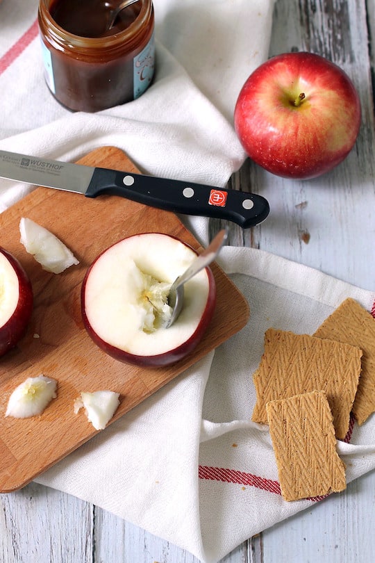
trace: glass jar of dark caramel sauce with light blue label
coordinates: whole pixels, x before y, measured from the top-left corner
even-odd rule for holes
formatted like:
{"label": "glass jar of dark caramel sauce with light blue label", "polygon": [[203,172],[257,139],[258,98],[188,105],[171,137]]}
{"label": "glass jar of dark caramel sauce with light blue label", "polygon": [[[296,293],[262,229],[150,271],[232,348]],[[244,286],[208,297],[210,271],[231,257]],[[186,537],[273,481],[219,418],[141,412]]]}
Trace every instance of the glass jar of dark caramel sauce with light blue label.
{"label": "glass jar of dark caramel sauce with light blue label", "polygon": [[151,0],[119,13],[120,0],[40,0],[38,22],[44,76],[53,96],[72,111],[95,112],[143,94],[153,79]]}

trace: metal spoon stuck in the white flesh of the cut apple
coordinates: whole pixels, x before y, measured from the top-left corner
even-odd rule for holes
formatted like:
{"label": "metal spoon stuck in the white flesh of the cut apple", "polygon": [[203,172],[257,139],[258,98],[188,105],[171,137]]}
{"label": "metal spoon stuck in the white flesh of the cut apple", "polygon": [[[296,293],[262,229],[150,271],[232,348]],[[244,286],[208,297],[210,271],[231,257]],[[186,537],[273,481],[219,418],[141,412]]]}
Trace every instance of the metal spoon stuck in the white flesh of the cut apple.
{"label": "metal spoon stuck in the white flesh of the cut apple", "polygon": [[178,315],[181,313],[181,309],[183,308],[183,297],[184,297],[183,284],[188,282],[189,279],[192,279],[194,275],[196,275],[198,272],[203,270],[203,268],[206,268],[208,264],[210,264],[215,260],[217,254],[219,254],[220,249],[222,248],[222,245],[226,241],[227,237],[228,237],[227,229],[222,229],[222,231],[219,231],[215,236],[215,238],[211,240],[208,247],[205,250],[203,250],[203,252],[201,252],[201,254],[199,254],[199,256],[197,256],[197,258],[195,258],[192,261],[188,270],[183,272],[181,276],[178,276],[174,280],[171,288],[169,289],[169,295],[168,295],[169,307],[172,307],[173,309],[172,316],[169,319],[167,325],[165,325],[165,328],[169,328],[170,326],[172,326],[174,321],[178,318]]}

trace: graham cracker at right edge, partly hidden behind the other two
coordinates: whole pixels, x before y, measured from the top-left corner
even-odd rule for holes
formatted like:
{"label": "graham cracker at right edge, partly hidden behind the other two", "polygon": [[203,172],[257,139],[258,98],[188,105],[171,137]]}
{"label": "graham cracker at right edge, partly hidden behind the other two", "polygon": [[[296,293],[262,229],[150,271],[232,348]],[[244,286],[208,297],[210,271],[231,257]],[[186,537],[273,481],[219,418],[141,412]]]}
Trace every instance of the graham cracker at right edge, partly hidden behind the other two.
{"label": "graham cracker at right edge, partly hidden behind the other two", "polygon": [[358,346],[363,350],[362,372],[353,404],[358,424],[375,412],[375,318],[349,298],[324,320],[314,336]]}

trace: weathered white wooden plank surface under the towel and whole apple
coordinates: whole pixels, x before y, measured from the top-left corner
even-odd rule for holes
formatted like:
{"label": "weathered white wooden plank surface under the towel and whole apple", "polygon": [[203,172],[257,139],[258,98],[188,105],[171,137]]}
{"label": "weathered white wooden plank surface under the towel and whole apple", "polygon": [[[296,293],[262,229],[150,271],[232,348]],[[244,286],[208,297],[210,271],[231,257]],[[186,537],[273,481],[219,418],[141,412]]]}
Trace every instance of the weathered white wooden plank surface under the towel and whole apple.
{"label": "weathered white wooden plank surface under the towel and whole apple", "polygon": [[[267,222],[233,227],[232,245],[260,247],[363,288],[375,286],[374,0],[278,0],[271,54],[331,58],[360,91],[363,127],[347,161],[325,177],[290,182],[245,163],[235,188],[269,199]],[[213,221],[212,231],[219,225]],[[249,539],[222,563],[372,563],[375,473]],[[0,495],[0,563],[198,563],[98,507],[32,483]]]}

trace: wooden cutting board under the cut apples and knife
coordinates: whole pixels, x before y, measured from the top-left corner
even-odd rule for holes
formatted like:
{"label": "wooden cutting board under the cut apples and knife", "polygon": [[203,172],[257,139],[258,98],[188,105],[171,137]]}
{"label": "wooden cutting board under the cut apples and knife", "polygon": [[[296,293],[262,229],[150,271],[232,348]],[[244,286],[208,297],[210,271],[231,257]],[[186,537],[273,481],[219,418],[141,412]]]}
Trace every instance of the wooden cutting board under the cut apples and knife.
{"label": "wooden cutting board under the cut apples and knife", "polygon": [[[102,147],[81,164],[139,172],[115,147]],[[80,261],[62,274],[44,272],[19,243],[19,220],[27,217],[46,227]],[[82,195],[37,188],[0,215],[0,245],[23,264],[33,284],[35,306],[26,336],[0,358],[0,491],[23,487],[97,434],[83,410],[74,414],[81,391],[109,389],[120,393],[112,421],[138,405],[247,323],[249,307],[224,272],[213,264],[217,307],[198,347],[166,368],[138,368],[110,358],[86,333],[80,312],[81,282],[95,257],[131,234],[162,232],[195,249],[199,243],[180,220],[167,211],[120,197],[89,199]],[[58,381],[58,398],[41,416],[5,418],[10,393],[26,377],[40,374]]]}

